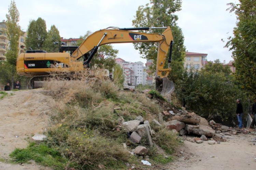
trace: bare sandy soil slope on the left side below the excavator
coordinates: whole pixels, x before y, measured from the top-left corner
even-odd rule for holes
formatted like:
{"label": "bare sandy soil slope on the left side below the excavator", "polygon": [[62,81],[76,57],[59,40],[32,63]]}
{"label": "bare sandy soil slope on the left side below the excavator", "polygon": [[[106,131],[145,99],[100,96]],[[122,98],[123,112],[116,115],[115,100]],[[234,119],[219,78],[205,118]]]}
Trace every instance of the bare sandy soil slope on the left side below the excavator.
{"label": "bare sandy soil slope on the left side below the excavator", "polygon": [[[42,89],[12,92],[0,100],[0,157],[9,159],[15,148],[26,148],[35,133],[48,126],[49,113],[55,101],[42,94]],[[9,92],[10,93],[10,92]],[[35,164],[11,165],[0,163],[0,169],[42,169]]]}

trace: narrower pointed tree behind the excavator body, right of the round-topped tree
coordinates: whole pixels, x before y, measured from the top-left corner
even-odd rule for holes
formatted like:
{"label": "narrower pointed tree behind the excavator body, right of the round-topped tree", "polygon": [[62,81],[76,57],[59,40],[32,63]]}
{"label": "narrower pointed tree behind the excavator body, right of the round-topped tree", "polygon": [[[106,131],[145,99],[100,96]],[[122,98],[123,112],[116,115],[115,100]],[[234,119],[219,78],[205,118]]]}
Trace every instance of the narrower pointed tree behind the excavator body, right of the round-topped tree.
{"label": "narrower pointed tree behind the excavator body, right of the round-topped tree", "polygon": [[43,43],[43,49],[47,52],[59,52],[59,44],[55,44],[55,42],[59,43],[59,41],[59,30],[55,25],[52,25],[51,29],[48,30],[47,37]]}

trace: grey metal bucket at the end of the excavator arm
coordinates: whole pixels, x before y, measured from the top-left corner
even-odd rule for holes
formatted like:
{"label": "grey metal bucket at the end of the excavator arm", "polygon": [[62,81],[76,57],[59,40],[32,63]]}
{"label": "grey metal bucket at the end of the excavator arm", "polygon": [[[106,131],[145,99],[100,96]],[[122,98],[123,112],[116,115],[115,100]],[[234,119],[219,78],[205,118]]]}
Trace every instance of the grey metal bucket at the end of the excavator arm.
{"label": "grey metal bucket at the end of the excavator arm", "polygon": [[174,83],[167,77],[163,77],[162,79],[156,78],[156,89],[161,93],[162,96],[171,94],[174,91],[174,88]]}

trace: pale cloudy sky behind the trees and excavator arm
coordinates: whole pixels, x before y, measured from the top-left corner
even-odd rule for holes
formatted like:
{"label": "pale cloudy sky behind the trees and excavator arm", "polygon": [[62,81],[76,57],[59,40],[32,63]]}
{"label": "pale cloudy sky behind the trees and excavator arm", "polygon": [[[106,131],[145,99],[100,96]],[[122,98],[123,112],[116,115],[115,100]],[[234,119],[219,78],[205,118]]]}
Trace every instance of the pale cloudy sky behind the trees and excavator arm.
{"label": "pale cloudy sky behind the trees and excavator arm", "polygon": [[[0,21],[6,19],[11,0],[0,5]],[[23,31],[31,19],[43,18],[47,30],[55,24],[64,38],[78,38],[86,31],[92,32],[110,26],[132,27],[132,20],[139,5],[150,0],[15,0],[20,14],[19,25]],[[238,0],[183,0],[179,17],[185,38],[184,45],[189,52],[207,53],[208,61],[232,60],[231,52],[224,48],[227,37],[232,36],[236,16],[226,11],[227,3]],[[118,57],[129,62],[142,61],[137,50],[130,43],[114,44]]]}

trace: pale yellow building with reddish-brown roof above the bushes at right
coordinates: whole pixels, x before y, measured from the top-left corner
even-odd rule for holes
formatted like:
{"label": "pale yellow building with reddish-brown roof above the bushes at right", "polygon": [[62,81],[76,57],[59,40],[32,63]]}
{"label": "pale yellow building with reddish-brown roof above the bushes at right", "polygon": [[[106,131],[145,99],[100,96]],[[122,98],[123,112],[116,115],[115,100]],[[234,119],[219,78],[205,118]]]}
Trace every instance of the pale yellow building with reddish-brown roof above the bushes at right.
{"label": "pale yellow building with reddish-brown roof above the bushes at right", "polygon": [[194,53],[194,52],[186,52],[184,67],[187,69],[201,69],[207,64],[207,55],[205,53]]}

